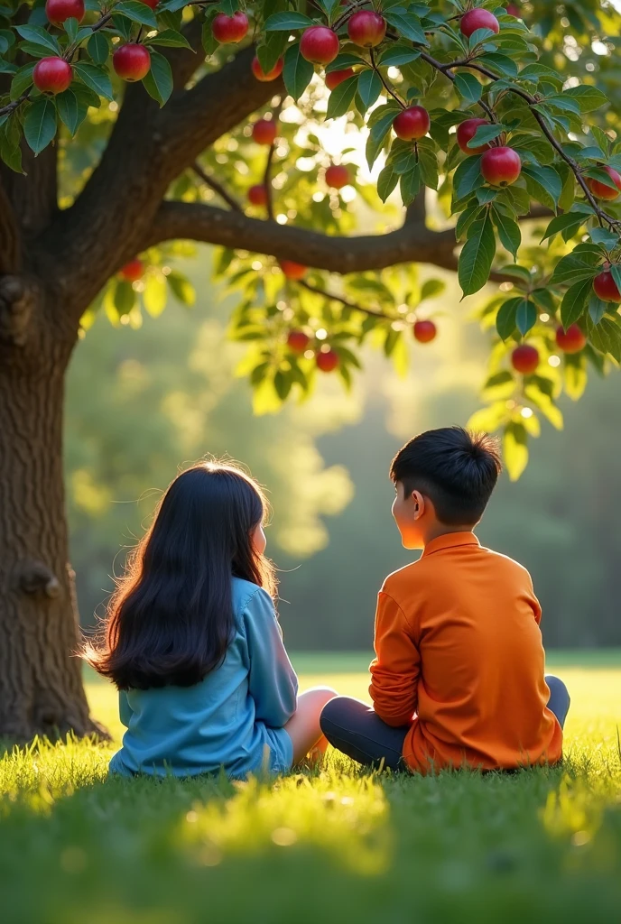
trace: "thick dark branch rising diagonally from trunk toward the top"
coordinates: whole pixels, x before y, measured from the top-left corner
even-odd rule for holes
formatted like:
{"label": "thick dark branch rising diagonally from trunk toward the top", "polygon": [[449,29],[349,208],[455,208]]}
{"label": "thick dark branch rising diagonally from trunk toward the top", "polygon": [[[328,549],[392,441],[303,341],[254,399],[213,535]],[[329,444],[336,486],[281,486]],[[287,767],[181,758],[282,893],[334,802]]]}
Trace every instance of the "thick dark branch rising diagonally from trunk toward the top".
{"label": "thick dark branch rising diagonally from trunk toward the top", "polygon": [[253,54],[247,48],[191,90],[175,92],[162,110],[139,84],[127,88],[101,163],[78,200],[41,239],[57,267],[55,281],[67,290],[65,310],[72,321],[79,321],[84,304],[152,237],[149,228],[170,183],[215,140],[283,91],[280,80],[254,78]]}

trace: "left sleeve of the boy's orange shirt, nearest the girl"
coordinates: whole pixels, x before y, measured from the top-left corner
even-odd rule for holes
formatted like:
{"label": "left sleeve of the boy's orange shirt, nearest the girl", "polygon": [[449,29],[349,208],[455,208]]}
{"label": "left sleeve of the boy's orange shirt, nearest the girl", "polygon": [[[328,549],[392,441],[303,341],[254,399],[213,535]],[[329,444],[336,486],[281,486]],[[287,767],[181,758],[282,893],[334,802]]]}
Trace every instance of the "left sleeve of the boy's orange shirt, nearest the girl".
{"label": "left sleeve of the boy's orange shirt, nearest the girl", "polygon": [[380,592],[375,614],[375,660],[369,692],[387,725],[408,725],[417,707],[420,654],[399,605]]}

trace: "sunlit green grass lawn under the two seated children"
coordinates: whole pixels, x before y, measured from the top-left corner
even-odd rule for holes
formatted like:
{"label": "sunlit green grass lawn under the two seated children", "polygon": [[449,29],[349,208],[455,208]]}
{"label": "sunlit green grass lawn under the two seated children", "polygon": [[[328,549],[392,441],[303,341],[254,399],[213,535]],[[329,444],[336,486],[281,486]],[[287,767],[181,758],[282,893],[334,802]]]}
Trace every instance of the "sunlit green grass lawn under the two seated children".
{"label": "sunlit green grass lawn under the two seated children", "polygon": [[[621,920],[621,655],[564,654],[562,770],[359,772],[334,751],[270,784],[106,780],[115,746],[0,760],[4,924],[512,924]],[[295,659],[294,659],[295,661]],[[366,696],[366,658],[300,657]],[[88,677],[120,732],[116,696]]]}

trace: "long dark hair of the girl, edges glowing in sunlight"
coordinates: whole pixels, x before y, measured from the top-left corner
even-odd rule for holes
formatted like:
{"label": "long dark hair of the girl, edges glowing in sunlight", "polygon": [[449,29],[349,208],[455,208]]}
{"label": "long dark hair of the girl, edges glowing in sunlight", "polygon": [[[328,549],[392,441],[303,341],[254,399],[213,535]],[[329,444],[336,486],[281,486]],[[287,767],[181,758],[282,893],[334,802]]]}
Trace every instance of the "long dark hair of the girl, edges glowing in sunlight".
{"label": "long dark hair of the girl, edges glowing in sunlight", "polygon": [[233,635],[231,577],[274,594],[273,565],[251,538],[265,516],[260,487],[240,468],[206,462],[184,471],[130,554],[85,660],[118,689],[199,683]]}

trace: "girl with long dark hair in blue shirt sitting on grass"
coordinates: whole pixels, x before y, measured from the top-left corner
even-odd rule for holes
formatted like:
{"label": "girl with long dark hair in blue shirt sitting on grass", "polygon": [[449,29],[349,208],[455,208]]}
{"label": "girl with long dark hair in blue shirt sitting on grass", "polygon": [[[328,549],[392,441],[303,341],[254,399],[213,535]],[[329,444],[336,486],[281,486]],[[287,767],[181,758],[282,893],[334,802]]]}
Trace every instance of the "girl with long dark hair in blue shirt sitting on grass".
{"label": "girl with long dark hair in blue shirt sitting on grass", "polygon": [[334,690],[297,696],[265,558],[266,504],[232,465],[202,463],[164,494],[86,651],[120,691],[112,772],[232,778],[286,772],[314,748]]}

